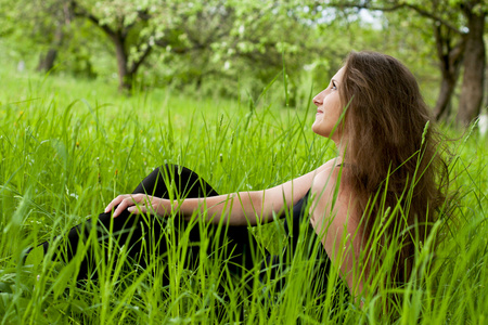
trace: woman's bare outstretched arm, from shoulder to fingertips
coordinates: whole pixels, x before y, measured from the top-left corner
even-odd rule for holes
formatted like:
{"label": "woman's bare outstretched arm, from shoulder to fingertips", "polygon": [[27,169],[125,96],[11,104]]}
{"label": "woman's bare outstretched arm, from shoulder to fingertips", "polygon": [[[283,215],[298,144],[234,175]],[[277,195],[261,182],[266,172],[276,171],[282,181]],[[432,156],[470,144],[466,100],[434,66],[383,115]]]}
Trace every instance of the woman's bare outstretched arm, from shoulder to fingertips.
{"label": "woman's bare outstretched arm, from shoulder to fingertips", "polygon": [[311,187],[316,174],[326,168],[331,161],[292,181],[262,191],[181,200],[169,200],[145,194],[119,195],[108,204],[105,212],[118,206],[114,211],[114,218],[129,208],[129,211],[134,213],[145,213],[150,210],[159,216],[167,216],[170,211],[178,210],[188,220],[196,213],[206,216],[206,221],[213,223],[222,221],[230,225],[266,223],[272,220],[273,212],[280,213],[285,207],[293,206],[304,197]]}

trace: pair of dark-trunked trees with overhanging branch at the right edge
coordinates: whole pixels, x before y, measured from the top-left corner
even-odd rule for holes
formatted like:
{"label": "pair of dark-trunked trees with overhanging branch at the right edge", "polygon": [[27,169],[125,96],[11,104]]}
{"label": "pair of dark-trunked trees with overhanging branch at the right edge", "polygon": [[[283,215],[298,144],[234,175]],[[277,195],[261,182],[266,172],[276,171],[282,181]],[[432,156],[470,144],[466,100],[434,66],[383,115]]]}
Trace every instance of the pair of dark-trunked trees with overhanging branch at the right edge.
{"label": "pair of dark-trunked trees with overhanging branch at the right edge", "polygon": [[425,18],[434,36],[440,69],[440,91],[435,116],[449,115],[451,98],[463,66],[463,78],[457,115],[467,125],[479,115],[484,98],[486,46],[484,40],[488,4],[484,0],[348,0],[330,2],[347,10],[368,9],[382,12],[412,11]]}

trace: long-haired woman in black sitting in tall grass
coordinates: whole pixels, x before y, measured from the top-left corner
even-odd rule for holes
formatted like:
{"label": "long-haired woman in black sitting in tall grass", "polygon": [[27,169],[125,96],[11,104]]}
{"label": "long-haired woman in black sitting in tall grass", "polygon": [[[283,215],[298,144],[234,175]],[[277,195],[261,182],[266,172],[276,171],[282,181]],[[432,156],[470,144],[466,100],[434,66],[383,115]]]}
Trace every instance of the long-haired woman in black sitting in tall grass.
{"label": "long-haired woman in black sitting in tall grass", "polygon": [[[74,227],[67,236],[65,259],[73,258],[97,222],[99,240],[115,235],[144,266],[150,261],[141,253],[141,238],[155,243],[156,253],[164,257],[170,248],[163,235],[165,218],[178,211],[176,229],[190,229],[189,239],[197,243],[205,224],[210,236],[218,238],[207,252],[226,247],[228,268],[243,275],[262,260],[247,226],[291,211],[293,219],[285,224],[291,250],[297,244],[301,220],[308,218],[305,225],[322,244],[325,270],[332,261],[352,297],[361,297],[372,284],[374,271],[384,261],[377,247],[388,243],[396,244],[389,281],[396,286],[406,283],[412,274],[415,246],[429,234],[436,217],[433,211],[445,199],[441,177],[446,174],[435,148],[437,133],[428,125],[429,113],[414,77],[391,56],[352,52],[313,103],[312,130],[334,141],[336,158],[278,186],[226,195],[217,195],[191,170],[158,168],[132,194],[113,199],[97,221]],[[219,233],[215,225],[226,231]],[[43,246],[47,250],[48,243]],[[185,266],[196,268],[201,249],[193,246],[190,250]],[[264,265],[280,261],[268,258]],[[95,276],[95,262],[87,253],[79,278]]]}

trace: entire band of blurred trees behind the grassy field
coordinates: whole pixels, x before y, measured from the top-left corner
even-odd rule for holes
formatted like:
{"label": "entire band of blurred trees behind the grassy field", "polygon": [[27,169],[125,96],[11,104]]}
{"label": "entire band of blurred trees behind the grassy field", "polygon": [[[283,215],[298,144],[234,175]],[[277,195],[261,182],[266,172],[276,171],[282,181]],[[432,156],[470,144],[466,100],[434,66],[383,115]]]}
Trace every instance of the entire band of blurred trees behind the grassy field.
{"label": "entire band of blurred trees behind the grassy field", "polygon": [[[0,50],[30,70],[295,107],[350,50],[403,61],[438,119],[486,109],[483,0],[0,0]],[[283,91],[283,89],[281,90]]]}

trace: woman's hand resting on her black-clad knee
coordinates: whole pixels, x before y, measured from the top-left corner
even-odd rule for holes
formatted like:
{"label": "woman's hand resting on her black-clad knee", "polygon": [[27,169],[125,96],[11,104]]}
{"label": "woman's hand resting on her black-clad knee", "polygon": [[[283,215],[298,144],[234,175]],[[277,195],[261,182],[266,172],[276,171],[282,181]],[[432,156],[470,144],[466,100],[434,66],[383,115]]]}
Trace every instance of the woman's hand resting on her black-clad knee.
{"label": "woman's hand resting on her black-clad knee", "polygon": [[118,217],[125,209],[131,213],[154,213],[165,216],[167,209],[164,206],[163,198],[145,195],[145,194],[124,194],[114,198],[105,208],[105,213],[112,211],[117,207],[112,214],[114,218]]}

